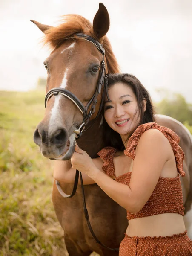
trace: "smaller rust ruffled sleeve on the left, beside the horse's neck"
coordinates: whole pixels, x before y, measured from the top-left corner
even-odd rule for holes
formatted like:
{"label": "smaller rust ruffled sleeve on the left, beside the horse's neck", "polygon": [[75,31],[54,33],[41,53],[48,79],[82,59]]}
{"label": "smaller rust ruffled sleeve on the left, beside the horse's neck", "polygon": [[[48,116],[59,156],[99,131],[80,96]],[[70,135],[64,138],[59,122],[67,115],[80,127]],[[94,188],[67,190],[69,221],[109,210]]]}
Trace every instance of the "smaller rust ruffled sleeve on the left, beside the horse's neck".
{"label": "smaller rust ruffled sleeve on the left, beside the horse's neck", "polygon": [[113,158],[115,156],[115,152],[117,150],[112,147],[105,147],[101,149],[97,155],[100,156],[104,160],[102,169],[106,173],[107,176],[115,179],[115,167],[113,163]]}

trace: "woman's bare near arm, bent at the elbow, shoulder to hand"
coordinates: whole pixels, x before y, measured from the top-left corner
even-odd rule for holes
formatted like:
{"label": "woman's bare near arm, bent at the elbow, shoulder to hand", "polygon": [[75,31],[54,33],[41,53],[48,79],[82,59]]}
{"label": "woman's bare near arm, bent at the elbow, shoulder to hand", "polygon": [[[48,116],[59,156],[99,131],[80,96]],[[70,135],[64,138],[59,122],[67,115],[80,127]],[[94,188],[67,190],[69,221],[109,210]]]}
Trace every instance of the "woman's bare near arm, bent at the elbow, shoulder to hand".
{"label": "woman's bare near arm, bent at the elbow, shoulder to hand", "polygon": [[116,182],[100,172],[96,166],[83,165],[85,158],[80,148],[72,157],[72,166],[78,167],[94,180],[114,201],[132,213],[137,213],[148,201],[155,189],[164,164],[170,157],[172,148],[166,137],[158,130],[143,133],[137,145],[137,155],[133,161],[129,186]]}

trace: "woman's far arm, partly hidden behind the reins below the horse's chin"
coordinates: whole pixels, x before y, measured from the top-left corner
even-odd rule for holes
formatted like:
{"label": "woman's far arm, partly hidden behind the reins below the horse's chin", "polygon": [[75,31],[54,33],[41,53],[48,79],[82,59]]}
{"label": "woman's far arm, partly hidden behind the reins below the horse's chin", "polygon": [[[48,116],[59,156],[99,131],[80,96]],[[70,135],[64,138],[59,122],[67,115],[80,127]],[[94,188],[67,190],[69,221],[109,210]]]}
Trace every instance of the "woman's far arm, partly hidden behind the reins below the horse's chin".
{"label": "woman's far arm, partly hidden behind the reins below the horse's chin", "polygon": [[[100,157],[92,159],[92,162],[94,163],[95,166],[97,166],[98,169],[100,169],[100,171],[102,171],[103,161],[100,159]],[[71,160],[55,161],[54,163],[53,177],[55,180],[58,180],[60,182],[63,181],[65,183],[74,183],[75,172],[76,172],[76,169],[72,168]],[[90,178],[88,175],[86,175],[83,172],[82,172],[82,177],[83,177],[84,185],[95,183],[95,181],[92,180],[92,178]],[[78,183],[80,184],[80,177],[79,177]]]}

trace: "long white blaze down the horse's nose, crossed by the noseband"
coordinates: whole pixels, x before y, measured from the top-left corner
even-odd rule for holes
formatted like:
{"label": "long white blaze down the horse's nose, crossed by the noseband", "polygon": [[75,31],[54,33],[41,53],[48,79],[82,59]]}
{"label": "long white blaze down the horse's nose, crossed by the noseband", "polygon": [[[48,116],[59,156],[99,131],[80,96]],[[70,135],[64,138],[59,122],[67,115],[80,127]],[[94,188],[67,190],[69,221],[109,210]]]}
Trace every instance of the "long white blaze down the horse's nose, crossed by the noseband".
{"label": "long white blaze down the horse's nose, crossed by the noseband", "polygon": [[[64,72],[63,80],[60,84],[60,87],[62,88],[66,88],[67,86],[67,72],[68,72],[68,68],[66,68]],[[54,129],[54,127],[57,126],[57,124],[59,125],[61,122],[60,99],[62,98],[62,101],[64,100],[64,97],[61,94],[58,94],[57,96],[52,96],[52,97],[54,97],[54,105],[50,112],[51,116],[49,119],[49,132],[51,132],[52,129]]]}

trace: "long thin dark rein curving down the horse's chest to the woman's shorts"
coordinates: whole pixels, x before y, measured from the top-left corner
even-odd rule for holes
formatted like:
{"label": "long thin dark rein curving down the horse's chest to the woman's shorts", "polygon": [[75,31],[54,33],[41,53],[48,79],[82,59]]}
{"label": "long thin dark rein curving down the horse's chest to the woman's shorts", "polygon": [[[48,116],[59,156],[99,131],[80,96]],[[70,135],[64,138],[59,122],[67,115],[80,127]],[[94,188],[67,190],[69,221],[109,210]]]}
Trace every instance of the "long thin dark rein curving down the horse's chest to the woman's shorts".
{"label": "long thin dark rein curving down the horse's chest to the woman's shorts", "polygon": [[[78,171],[79,172],[79,171]],[[84,192],[84,187],[83,187],[83,177],[82,177],[82,174],[80,172],[80,185],[81,185],[81,190],[82,190],[82,195],[83,195],[83,210],[84,210],[84,213],[85,213],[85,218],[86,218],[86,222],[87,222],[87,225],[89,227],[89,230],[93,236],[93,238],[95,239],[96,243],[97,244],[100,244],[101,246],[103,246],[104,248],[108,249],[108,250],[112,250],[112,251],[115,251],[115,252],[118,252],[119,251],[119,248],[109,248],[107,247],[106,245],[102,244],[99,239],[97,239],[97,236],[95,236],[95,233],[92,229],[92,226],[90,224],[90,221],[89,221],[89,213],[88,213],[88,210],[87,210],[87,207],[86,207],[86,201],[85,201],[85,192]]]}

